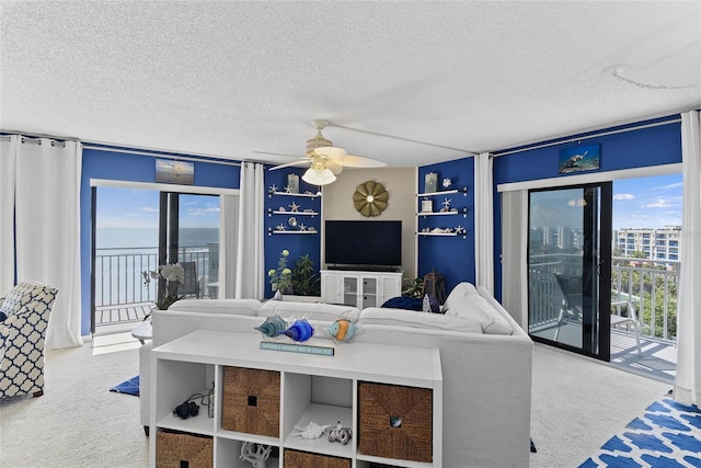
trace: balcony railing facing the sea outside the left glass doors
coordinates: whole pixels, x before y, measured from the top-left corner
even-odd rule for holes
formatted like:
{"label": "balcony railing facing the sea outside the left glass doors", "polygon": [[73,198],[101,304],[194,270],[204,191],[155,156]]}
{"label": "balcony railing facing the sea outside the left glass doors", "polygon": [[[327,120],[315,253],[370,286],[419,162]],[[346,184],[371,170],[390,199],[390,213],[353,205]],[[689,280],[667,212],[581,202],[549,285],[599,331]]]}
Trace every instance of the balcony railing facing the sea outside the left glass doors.
{"label": "balcony railing facing the sea outside the left glass doors", "polygon": [[[196,264],[199,297],[207,297],[210,288],[206,285],[216,282],[219,251],[212,246],[195,246],[180,248],[180,262]],[[158,282],[145,283],[142,272],[158,270],[158,248],[117,248],[96,249],[95,252],[95,309],[118,310],[133,306],[150,307],[156,303]],[[146,306],[145,306],[146,305]],[[115,321],[134,321],[138,319],[115,319],[119,315],[107,313],[111,319],[96,320],[96,324],[115,323]]]}

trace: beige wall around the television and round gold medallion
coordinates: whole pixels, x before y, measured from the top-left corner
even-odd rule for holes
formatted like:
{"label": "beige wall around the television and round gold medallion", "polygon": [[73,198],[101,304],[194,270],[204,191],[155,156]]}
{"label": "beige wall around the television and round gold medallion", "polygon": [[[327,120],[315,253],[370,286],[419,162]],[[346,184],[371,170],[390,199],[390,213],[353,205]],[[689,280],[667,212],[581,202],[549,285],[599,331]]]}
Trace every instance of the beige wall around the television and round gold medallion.
{"label": "beige wall around the television and round gold medallion", "polygon": [[[376,217],[365,217],[353,206],[353,193],[358,184],[375,181],[384,185],[389,193],[387,209]],[[402,266],[404,278],[416,275],[416,168],[349,169],[338,174],[338,179],[323,187],[323,219],[402,221]],[[324,258],[322,241],[321,258]],[[322,261],[323,264],[323,261]],[[325,267],[325,264],[324,264]]]}

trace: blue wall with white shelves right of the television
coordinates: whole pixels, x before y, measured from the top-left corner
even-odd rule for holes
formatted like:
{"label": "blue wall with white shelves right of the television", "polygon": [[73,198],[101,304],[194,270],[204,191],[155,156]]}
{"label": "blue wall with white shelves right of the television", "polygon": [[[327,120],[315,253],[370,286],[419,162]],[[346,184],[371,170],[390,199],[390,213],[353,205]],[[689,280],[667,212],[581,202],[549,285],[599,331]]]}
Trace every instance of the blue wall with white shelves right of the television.
{"label": "blue wall with white shelves right of the television", "polygon": [[[435,270],[444,278],[446,293],[450,293],[461,282],[474,283],[474,160],[473,158],[462,158],[418,168],[418,193],[425,193],[425,176],[429,172],[438,174],[439,191],[467,187],[467,194],[457,193],[429,197],[434,202],[434,212],[439,210],[443,202],[449,198],[451,208],[468,209],[467,217],[462,217],[462,215],[418,217],[420,231],[424,228],[456,228],[458,225],[466,229],[464,238],[462,236],[417,236],[418,267],[416,275],[423,277]],[[445,178],[451,181],[448,189],[441,185]],[[422,196],[417,197],[417,213],[421,212],[423,198]]]}

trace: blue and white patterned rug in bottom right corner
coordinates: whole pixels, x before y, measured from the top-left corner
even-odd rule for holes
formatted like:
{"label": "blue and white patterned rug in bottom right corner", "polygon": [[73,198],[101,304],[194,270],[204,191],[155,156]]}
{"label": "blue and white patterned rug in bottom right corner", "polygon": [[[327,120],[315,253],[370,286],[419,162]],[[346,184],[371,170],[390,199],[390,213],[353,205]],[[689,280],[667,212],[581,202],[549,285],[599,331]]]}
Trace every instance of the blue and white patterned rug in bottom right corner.
{"label": "blue and white patterned rug in bottom right corner", "polygon": [[655,401],[579,468],[701,467],[701,411]]}

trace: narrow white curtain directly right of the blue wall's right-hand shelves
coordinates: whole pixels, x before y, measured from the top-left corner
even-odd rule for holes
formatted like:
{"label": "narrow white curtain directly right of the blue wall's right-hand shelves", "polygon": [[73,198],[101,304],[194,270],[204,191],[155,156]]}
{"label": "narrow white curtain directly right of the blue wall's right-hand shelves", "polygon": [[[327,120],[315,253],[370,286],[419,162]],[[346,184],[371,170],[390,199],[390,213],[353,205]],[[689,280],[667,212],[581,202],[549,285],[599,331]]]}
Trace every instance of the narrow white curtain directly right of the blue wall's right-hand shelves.
{"label": "narrow white curtain directly right of the blue wall's right-hand shelves", "polygon": [[[474,265],[476,284],[494,294],[494,185],[489,152],[474,157]],[[508,309],[507,309],[508,310]]]}

